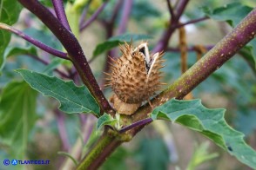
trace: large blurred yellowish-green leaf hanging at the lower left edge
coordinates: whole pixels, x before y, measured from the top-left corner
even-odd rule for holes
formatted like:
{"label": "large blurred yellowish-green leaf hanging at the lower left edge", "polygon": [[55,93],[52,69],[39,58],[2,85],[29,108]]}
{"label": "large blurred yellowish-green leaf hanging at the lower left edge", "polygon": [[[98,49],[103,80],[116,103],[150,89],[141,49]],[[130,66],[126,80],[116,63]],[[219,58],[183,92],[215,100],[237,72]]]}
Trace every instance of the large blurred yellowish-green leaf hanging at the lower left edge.
{"label": "large blurred yellowish-green leaf hanging at the lower left edge", "polygon": [[1,94],[0,143],[16,159],[25,158],[28,136],[35,121],[37,92],[26,82],[10,82]]}

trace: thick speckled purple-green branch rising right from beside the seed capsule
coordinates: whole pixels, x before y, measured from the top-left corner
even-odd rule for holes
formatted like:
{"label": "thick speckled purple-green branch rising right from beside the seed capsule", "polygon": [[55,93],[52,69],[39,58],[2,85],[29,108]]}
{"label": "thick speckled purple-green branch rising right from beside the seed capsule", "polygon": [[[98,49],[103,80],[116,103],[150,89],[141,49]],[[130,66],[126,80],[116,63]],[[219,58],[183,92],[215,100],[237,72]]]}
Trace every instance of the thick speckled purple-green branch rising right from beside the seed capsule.
{"label": "thick speckled purple-green branch rising right from beside the seed capsule", "polygon": [[[256,9],[250,12],[236,28],[232,29],[232,32],[218,42],[199,62],[196,62],[192,68],[181,75],[177,81],[154,97],[151,101],[152,106],[146,104],[139,108],[132,115],[133,122],[147,118],[147,114],[151,113],[153,108],[162,105],[173,97],[182,99],[193,88],[196,88],[200,82],[203,82],[234,56],[247,42],[250,42],[255,37],[255,34]],[[144,126],[132,129],[132,134],[137,134],[142,127]]]}

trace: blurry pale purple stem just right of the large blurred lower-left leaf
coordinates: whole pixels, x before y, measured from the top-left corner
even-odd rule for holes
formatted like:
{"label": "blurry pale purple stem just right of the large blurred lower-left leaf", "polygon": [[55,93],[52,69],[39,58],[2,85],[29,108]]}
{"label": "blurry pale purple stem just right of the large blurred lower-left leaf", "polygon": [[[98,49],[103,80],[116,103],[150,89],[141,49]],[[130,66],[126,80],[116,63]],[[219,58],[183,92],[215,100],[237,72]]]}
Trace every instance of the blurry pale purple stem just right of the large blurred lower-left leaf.
{"label": "blurry pale purple stem just right of the large blurred lower-left leaf", "polygon": [[66,134],[66,129],[64,125],[64,114],[61,113],[58,109],[55,110],[57,116],[57,127],[60,139],[62,141],[63,147],[65,151],[68,151],[71,147],[68,135]]}

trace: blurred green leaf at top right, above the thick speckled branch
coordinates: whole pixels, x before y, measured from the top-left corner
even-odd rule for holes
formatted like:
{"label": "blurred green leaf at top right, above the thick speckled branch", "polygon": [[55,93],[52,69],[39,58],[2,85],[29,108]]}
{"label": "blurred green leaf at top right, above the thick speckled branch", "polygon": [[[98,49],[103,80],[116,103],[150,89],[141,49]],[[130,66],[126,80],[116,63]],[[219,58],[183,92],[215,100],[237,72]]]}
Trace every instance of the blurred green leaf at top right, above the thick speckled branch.
{"label": "blurred green leaf at top right, above the thick speckled branch", "polygon": [[253,8],[242,3],[229,3],[214,10],[203,8],[205,14],[217,21],[226,21],[232,27],[237,25]]}

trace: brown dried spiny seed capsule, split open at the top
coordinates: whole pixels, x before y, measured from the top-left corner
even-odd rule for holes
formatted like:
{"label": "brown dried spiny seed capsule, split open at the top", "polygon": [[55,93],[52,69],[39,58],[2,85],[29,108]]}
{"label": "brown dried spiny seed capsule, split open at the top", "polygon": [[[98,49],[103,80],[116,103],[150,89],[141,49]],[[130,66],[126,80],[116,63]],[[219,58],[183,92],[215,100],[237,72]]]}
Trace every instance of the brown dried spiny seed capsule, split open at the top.
{"label": "brown dried spiny seed capsule, split open at the top", "polygon": [[151,55],[147,42],[141,42],[137,48],[125,42],[120,46],[122,56],[113,60],[109,83],[114,95],[113,107],[119,114],[133,114],[143,101],[149,100],[161,87],[163,53]]}

